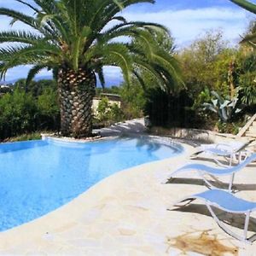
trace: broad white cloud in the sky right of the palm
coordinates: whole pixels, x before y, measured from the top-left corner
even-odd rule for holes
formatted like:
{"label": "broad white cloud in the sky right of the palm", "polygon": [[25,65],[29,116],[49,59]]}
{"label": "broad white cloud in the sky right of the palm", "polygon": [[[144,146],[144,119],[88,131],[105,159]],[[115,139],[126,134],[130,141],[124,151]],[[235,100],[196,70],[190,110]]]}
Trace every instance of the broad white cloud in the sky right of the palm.
{"label": "broad white cloud in the sky right of the palm", "polygon": [[234,43],[247,26],[247,14],[242,9],[167,9],[151,13],[124,12],[123,15],[127,20],[154,21],[168,27],[178,46],[195,40],[202,32],[219,28],[224,38]]}

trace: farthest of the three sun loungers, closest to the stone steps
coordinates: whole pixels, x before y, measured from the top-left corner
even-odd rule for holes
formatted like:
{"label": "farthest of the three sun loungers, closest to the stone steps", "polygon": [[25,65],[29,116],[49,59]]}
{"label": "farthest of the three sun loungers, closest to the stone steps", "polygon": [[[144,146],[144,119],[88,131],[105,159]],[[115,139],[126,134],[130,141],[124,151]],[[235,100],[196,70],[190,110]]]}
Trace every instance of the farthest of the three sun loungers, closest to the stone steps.
{"label": "farthest of the three sun loungers, closest to the stone steps", "polygon": [[217,144],[203,144],[200,147],[196,148],[194,154],[190,158],[195,158],[199,154],[207,154],[213,157],[219,166],[224,166],[215,156],[223,156],[229,159],[229,166],[232,165],[233,160],[238,160],[241,162],[241,158],[247,158],[248,155],[252,154],[250,150],[247,150],[249,144],[253,143],[255,139],[251,139],[247,142],[230,142],[230,143],[217,143]]}

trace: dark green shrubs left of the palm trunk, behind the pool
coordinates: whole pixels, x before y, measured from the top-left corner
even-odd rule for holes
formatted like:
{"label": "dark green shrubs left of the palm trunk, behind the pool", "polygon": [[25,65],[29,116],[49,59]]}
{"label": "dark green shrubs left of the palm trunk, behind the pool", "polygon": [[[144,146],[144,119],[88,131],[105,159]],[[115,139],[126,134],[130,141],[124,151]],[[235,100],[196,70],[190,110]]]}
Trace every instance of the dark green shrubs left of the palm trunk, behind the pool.
{"label": "dark green shrubs left of the palm trunk, behind the pool", "polygon": [[56,131],[60,110],[56,90],[45,87],[39,96],[16,86],[0,97],[0,140],[35,131]]}

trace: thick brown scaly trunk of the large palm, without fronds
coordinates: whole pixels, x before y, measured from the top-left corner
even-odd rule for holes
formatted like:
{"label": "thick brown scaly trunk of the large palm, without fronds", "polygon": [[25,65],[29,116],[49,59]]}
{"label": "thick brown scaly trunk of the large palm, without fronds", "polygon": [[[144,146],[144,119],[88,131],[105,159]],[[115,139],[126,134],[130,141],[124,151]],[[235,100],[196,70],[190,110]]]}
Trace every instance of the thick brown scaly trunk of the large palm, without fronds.
{"label": "thick brown scaly trunk of the large palm, without fronds", "polygon": [[90,137],[92,131],[92,99],[96,76],[79,68],[75,72],[61,68],[58,73],[61,106],[61,134],[67,137]]}

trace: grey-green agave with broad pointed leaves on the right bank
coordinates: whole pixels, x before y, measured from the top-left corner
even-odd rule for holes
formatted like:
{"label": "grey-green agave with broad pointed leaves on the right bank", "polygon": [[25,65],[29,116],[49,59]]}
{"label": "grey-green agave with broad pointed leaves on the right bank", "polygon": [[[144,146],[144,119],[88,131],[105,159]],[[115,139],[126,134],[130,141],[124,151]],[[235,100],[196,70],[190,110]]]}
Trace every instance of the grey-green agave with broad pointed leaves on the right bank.
{"label": "grey-green agave with broad pointed leaves on the right bank", "polygon": [[228,123],[237,113],[241,112],[240,108],[237,108],[238,97],[237,94],[231,99],[224,99],[222,96],[219,96],[218,92],[215,90],[211,91],[212,96],[214,97],[211,103],[205,102],[202,104],[204,109],[211,110],[214,113],[218,114],[219,119]]}

